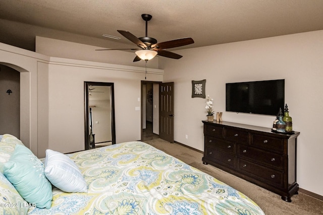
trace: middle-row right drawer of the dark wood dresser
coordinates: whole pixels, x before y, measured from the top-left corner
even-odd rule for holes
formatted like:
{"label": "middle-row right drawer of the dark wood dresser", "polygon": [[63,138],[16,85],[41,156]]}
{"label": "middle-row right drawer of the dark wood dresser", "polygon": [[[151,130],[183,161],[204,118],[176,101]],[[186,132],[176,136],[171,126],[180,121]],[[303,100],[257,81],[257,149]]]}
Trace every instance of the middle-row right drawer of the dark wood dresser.
{"label": "middle-row right drawer of the dark wood dresser", "polygon": [[284,171],[284,156],[272,152],[258,150],[243,145],[238,146],[237,155],[240,158],[253,160],[255,163],[261,163],[271,166],[275,169]]}

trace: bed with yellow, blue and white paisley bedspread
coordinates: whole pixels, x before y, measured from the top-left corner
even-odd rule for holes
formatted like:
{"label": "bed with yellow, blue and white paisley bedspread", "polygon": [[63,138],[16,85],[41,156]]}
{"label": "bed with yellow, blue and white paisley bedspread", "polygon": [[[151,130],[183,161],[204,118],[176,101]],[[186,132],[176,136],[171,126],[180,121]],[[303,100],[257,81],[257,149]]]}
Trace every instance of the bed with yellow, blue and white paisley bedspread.
{"label": "bed with yellow, blue and white paisley bedspread", "polygon": [[[64,155],[84,177],[85,190],[64,192],[50,183],[50,206],[39,208],[5,176],[23,148],[20,140],[6,134],[0,138],[3,214],[264,214],[241,192],[141,141]],[[44,169],[46,159],[40,159]]]}

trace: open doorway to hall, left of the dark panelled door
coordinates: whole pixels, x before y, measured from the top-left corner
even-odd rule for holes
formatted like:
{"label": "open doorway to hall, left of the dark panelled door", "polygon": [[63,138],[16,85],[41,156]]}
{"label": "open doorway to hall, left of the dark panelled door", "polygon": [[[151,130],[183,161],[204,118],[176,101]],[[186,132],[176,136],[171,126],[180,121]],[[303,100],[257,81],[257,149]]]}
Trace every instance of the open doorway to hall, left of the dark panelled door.
{"label": "open doorway to hall, left of the dark panelled door", "polygon": [[141,141],[159,138],[159,84],[141,81]]}

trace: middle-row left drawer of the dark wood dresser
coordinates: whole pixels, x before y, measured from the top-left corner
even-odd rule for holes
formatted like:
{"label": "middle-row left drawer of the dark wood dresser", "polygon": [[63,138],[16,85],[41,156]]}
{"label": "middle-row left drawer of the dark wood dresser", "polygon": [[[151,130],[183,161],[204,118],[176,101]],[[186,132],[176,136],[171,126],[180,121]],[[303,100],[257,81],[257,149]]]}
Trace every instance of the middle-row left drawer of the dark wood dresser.
{"label": "middle-row left drawer of the dark wood dresser", "polygon": [[219,150],[229,154],[236,154],[236,143],[225,141],[212,136],[205,136],[205,146]]}

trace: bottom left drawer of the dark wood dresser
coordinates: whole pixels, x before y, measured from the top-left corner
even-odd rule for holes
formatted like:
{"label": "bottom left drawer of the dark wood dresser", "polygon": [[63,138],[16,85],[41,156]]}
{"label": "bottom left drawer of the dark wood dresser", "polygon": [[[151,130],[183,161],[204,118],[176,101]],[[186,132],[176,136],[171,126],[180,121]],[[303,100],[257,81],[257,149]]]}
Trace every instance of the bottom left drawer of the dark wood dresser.
{"label": "bottom left drawer of the dark wood dresser", "polygon": [[204,157],[221,165],[228,166],[230,168],[236,168],[236,157],[231,154],[219,152],[211,147],[205,147]]}

